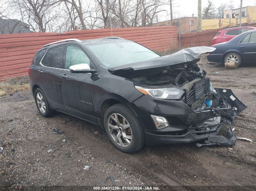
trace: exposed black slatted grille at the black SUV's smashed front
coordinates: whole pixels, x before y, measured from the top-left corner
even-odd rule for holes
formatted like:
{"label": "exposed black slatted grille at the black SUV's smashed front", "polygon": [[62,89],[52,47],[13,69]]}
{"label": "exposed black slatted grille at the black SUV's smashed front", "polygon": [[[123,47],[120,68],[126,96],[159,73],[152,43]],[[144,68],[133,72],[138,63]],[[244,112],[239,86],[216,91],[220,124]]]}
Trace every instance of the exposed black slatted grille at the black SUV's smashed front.
{"label": "exposed black slatted grille at the black SUV's smashed front", "polygon": [[188,106],[191,106],[194,101],[198,100],[204,94],[205,84],[206,78],[193,83],[191,91],[189,91],[186,96],[186,104]]}

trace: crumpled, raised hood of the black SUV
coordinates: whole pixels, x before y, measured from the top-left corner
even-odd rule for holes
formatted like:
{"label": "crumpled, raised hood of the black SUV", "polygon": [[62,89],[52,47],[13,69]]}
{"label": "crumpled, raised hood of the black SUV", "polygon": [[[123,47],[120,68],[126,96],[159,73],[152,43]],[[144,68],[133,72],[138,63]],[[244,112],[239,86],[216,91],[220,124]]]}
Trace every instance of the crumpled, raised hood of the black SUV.
{"label": "crumpled, raised hood of the black SUV", "polygon": [[124,70],[125,71],[143,70],[143,69],[149,69],[149,68],[158,68],[158,67],[170,66],[175,64],[181,64],[185,62],[192,62],[196,60],[201,54],[212,52],[215,49],[216,48],[208,47],[208,46],[196,46],[191,48],[185,48],[174,54],[170,54],[167,56],[160,56],[158,58],[146,60],[143,62],[134,62],[130,64],[116,66],[116,67],[108,68],[108,70],[111,73],[118,70],[122,70],[124,72]]}

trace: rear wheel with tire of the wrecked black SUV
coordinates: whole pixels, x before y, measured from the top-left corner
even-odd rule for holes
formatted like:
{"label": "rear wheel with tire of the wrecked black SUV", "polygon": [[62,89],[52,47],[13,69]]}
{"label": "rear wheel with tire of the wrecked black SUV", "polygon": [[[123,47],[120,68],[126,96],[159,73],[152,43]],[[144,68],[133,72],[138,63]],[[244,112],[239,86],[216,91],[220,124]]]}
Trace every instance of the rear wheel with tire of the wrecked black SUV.
{"label": "rear wheel with tire of the wrecked black SUV", "polygon": [[36,107],[42,116],[50,117],[53,115],[54,110],[50,108],[46,95],[40,88],[35,90],[34,98]]}

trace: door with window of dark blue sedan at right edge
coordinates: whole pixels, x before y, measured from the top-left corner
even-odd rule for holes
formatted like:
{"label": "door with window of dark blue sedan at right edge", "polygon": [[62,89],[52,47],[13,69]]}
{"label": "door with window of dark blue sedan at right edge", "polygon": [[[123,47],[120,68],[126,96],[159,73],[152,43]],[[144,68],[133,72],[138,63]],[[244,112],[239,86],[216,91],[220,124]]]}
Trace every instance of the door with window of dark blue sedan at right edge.
{"label": "door with window of dark blue sedan at right edge", "polygon": [[246,34],[237,45],[243,62],[256,62],[256,32]]}

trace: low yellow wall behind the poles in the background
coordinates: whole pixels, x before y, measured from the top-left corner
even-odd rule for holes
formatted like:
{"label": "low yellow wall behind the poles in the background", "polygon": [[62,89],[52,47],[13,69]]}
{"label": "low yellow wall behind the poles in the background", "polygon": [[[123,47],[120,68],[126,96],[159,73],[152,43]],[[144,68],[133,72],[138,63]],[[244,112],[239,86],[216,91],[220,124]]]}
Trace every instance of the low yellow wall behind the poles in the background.
{"label": "low yellow wall behind the poles in the background", "polygon": [[[256,14],[256,13],[254,13]],[[231,18],[229,24],[228,19],[203,19],[202,20],[202,30],[209,30],[209,29],[218,29],[220,28],[219,20],[221,20],[221,27],[228,27],[228,26],[237,26],[237,19]],[[239,22],[239,19],[238,19]],[[247,23],[247,18],[242,18],[242,23]]]}

